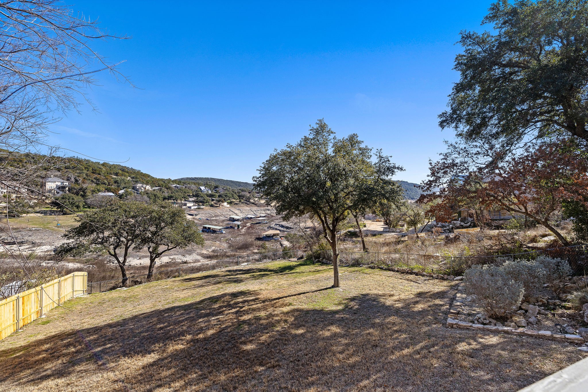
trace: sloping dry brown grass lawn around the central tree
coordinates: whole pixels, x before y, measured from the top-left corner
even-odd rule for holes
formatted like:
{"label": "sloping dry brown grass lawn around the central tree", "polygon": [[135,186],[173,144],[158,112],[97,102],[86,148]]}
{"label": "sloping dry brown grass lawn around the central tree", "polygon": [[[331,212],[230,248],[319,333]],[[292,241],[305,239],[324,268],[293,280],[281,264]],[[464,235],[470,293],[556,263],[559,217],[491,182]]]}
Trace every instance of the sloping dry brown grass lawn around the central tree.
{"label": "sloping dry brown grass lawn around the central tree", "polygon": [[446,329],[455,283],[273,262],[68,301],[0,341],[0,391],[515,391],[573,346]]}

